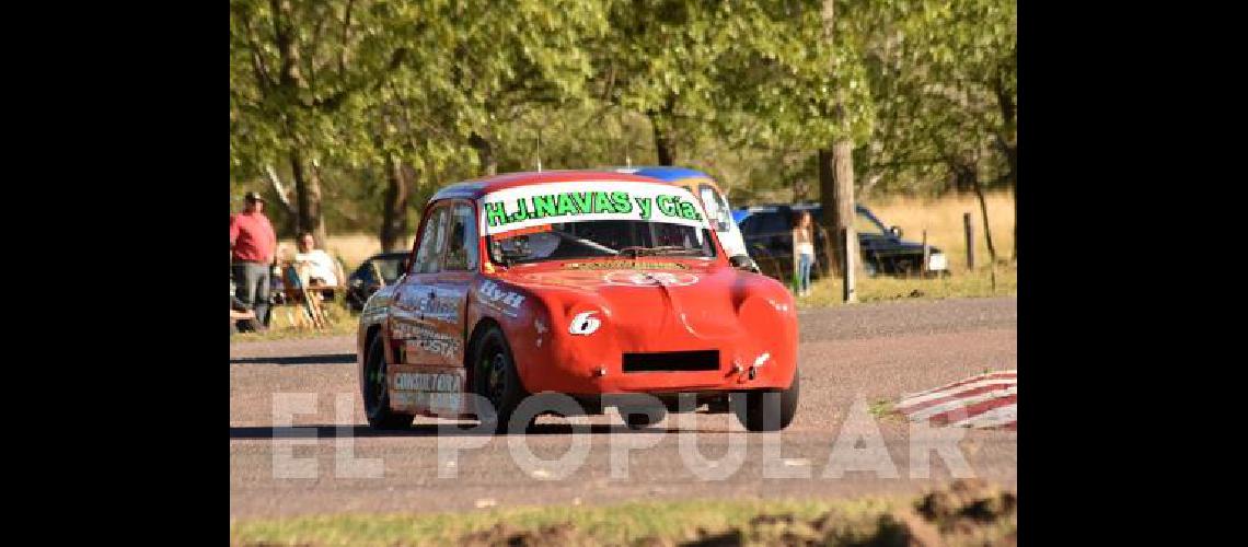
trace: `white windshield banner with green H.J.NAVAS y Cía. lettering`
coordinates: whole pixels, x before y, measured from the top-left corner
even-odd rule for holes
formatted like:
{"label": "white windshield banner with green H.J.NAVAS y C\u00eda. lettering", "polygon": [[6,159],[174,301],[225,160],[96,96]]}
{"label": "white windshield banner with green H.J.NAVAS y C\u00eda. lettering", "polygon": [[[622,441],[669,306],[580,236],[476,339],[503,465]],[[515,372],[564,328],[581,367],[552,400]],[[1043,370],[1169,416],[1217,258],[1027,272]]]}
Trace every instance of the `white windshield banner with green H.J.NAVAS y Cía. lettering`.
{"label": "white windshield banner with green H.J.NAVAS y C\u00eda. lettering", "polygon": [[505,188],[480,199],[480,228],[488,235],[584,221],[648,221],[709,228],[698,199],[676,186],[552,182]]}

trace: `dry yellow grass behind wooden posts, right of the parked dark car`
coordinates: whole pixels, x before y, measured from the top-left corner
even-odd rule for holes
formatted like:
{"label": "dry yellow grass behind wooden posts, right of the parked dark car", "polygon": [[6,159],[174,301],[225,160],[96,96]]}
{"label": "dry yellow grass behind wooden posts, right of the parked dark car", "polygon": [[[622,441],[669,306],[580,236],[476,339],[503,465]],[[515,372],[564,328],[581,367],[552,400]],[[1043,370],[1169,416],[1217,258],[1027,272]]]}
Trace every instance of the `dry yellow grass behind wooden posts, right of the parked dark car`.
{"label": "dry yellow grass behind wooden posts, right of the parked dark car", "polygon": [[[1013,258],[1013,193],[993,192],[985,196],[985,202],[988,206],[988,222],[992,227],[992,244],[997,249],[997,260],[1008,262]],[[971,213],[971,219],[975,222],[976,267],[988,263],[988,244],[983,237],[983,217],[980,213],[980,202],[973,194],[937,199],[885,197],[871,199],[864,204],[884,223],[901,227],[905,239],[921,242],[924,229],[926,229],[927,243],[940,247],[945,252],[948,257],[950,269],[955,274],[966,269],[966,235],[962,228],[962,214]]]}

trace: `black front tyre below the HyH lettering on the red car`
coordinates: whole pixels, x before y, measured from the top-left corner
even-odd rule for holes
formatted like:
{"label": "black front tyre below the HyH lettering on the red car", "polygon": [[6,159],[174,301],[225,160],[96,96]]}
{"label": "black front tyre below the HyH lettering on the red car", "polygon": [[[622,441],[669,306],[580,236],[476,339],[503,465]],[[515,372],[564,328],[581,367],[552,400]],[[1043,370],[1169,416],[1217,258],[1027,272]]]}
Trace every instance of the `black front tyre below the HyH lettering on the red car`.
{"label": "black front tyre below the HyH lettering on the red car", "polygon": [[515,370],[512,346],[497,325],[487,328],[472,349],[473,391],[489,400],[497,412],[495,432],[507,432],[507,425],[520,401],[528,396]]}

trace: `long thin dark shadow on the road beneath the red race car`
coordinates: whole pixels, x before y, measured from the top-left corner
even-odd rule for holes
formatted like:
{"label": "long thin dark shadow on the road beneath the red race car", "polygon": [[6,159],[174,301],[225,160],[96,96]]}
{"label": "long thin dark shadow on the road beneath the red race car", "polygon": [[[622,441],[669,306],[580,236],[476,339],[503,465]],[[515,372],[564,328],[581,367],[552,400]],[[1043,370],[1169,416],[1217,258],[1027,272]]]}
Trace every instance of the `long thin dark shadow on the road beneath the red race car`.
{"label": "long thin dark shadow on the road beneath the red race car", "polygon": [[[458,426],[454,424],[416,424],[406,430],[374,430],[367,425],[297,425],[292,427],[230,427],[230,439],[334,439],[338,430],[343,429],[343,437],[436,437],[447,436],[482,436],[490,435],[488,431],[473,431],[472,425]],[[578,427],[580,429],[580,427]],[[577,430],[568,424],[538,424],[529,426],[525,435],[572,435]],[[670,427],[646,427],[631,430],[624,425],[589,425],[590,435],[608,434],[674,434],[679,432]],[[509,435],[509,434],[503,434]]]}

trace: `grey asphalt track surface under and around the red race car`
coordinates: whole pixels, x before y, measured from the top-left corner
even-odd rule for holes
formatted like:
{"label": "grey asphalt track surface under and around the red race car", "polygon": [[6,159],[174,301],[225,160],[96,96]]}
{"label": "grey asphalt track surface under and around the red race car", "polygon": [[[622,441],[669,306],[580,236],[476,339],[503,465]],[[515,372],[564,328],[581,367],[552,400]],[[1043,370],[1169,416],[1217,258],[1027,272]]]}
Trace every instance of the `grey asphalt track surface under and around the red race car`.
{"label": "grey asphalt track surface under and around the red race car", "polygon": [[[872,417],[867,424],[874,427],[845,426],[856,402],[865,409],[985,370],[1017,368],[1016,299],[864,304],[802,312],[800,321],[801,399],[796,420],[775,444],[779,456],[764,449],[775,436],[748,434],[731,415],[669,415],[641,432],[625,429],[614,411],[589,417],[587,435],[570,435],[568,422],[559,419],[542,419],[525,436],[439,436],[439,421],[426,417],[418,417],[411,431],[377,432],[363,416],[351,336],[233,343],[231,518],[630,500],[906,495],[951,481],[952,471],[1017,486],[1013,431],[943,430],[961,435],[943,442],[956,447],[946,452],[965,459],[966,467],[960,467],[947,465],[938,451],[927,451],[929,466],[911,461],[911,452],[925,452],[917,450],[924,442],[904,420]],[[308,414],[293,415],[292,427],[281,426],[275,406],[301,397],[310,405]],[[680,421],[685,419],[690,421]],[[874,431],[889,457],[876,452],[855,459],[854,449],[869,455],[879,446],[871,440]],[[866,440],[855,445],[864,435]],[[729,457],[719,464],[686,464],[686,456],[695,452],[681,450],[681,439],[703,459]],[[512,446],[519,441],[547,460],[573,454],[569,447],[574,446],[588,446],[588,454],[579,466],[525,462],[513,456],[522,454]],[[439,442],[466,449],[439,464]],[[617,449],[653,446],[628,451],[626,475],[617,477],[613,444]],[[736,447],[730,451],[730,446]],[[738,465],[733,455],[744,460]],[[842,466],[875,471],[829,473]],[[895,477],[889,476],[890,469]],[[454,476],[441,477],[439,470]]]}

